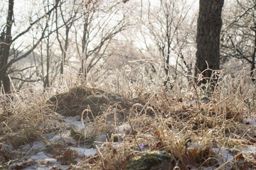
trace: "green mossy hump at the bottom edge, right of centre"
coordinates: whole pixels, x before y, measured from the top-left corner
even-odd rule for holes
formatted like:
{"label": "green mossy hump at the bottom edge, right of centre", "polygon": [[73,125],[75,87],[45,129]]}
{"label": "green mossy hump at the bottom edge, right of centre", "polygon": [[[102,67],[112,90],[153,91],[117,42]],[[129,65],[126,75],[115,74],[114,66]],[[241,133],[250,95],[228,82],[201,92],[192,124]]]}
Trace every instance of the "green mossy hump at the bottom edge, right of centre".
{"label": "green mossy hump at the bottom edge, right of centre", "polygon": [[171,154],[166,152],[148,152],[146,154],[142,154],[141,157],[132,159],[132,161],[127,164],[126,169],[149,170],[154,166],[158,166],[164,162],[171,162],[172,160],[174,159]]}

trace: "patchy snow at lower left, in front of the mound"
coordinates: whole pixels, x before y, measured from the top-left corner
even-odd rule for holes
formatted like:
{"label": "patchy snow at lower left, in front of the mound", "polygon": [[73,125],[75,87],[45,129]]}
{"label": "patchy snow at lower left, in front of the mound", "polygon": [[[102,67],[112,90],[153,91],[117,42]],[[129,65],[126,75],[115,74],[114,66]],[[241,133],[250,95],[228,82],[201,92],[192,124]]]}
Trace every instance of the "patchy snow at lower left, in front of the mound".
{"label": "patchy snow at lower left, in front of the mound", "polygon": [[[62,118],[60,122],[65,123],[65,126],[67,128],[70,127],[76,130],[82,130],[82,128],[85,128],[85,121],[84,123],[82,123],[80,120],[80,116]],[[72,146],[66,147],[65,150],[71,149],[73,151],[76,151],[78,152],[78,155],[80,157],[89,157],[97,153],[96,149],[89,149],[85,146],[78,145],[78,143],[73,139],[73,137],[70,137],[70,130],[66,130],[61,134],[51,132],[48,135],[46,135],[46,139],[48,140],[48,142],[61,141],[65,144],[68,144],[69,146]],[[46,148],[46,145],[46,142],[34,141],[21,147],[21,149],[19,149],[17,152],[20,152],[25,156],[22,160],[20,160],[19,162],[15,162],[10,166],[13,167],[14,169],[17,166],[24,166],[23,169],[25,170],[68,169],[69,165],[60,164],[60,162],[57,161],[59,155],[53,155],[52,151]],[[81,161],[81,159],[79,158],[75,160],[78,162]],[[30,166],[26,164],[29,164]]]}

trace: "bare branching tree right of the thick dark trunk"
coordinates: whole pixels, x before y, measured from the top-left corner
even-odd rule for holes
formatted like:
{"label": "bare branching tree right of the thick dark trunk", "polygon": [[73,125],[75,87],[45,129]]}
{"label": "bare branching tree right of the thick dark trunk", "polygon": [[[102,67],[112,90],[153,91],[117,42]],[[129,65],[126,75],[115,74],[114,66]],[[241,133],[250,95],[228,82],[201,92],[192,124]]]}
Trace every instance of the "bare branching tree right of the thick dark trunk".
{"label": "bare branching tree right of the thick dark trunk", "polygon": [[250,77],[256,81],[256,2],[236,0],[228,7],[232,10],[227,10],[226,26],[222,31],[222,60],[235,58],[241,61],[240,65],[250,66]]}

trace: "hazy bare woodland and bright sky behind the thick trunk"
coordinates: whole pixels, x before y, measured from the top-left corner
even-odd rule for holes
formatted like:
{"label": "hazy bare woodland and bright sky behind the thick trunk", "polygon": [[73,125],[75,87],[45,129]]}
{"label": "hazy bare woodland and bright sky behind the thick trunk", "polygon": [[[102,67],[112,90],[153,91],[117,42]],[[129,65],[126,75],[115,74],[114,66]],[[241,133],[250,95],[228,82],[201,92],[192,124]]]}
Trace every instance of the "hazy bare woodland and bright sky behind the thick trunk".
{"label": "hazy bare woodland and bright sky behind the thick trunk", "polygon": [[[194,76],[198,1],[10,2],[2,1],[0,8],[5,91],[60,87],[63,78],[113,89],[121,84],[171,88],[176,83],[182,89],[189,79],[181,74]],[[255,81],[255,12],[255,0],[225,1],[220,35],[224,74],[235,77],[245,69]]]}

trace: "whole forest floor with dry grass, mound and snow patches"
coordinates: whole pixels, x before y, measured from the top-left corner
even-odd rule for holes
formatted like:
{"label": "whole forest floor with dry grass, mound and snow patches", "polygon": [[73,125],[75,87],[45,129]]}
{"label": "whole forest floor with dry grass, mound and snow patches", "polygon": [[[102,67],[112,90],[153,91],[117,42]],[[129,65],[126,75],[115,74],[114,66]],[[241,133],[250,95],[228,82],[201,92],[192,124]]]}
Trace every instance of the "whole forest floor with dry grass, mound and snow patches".
{"label": "whole forest floor with dry grass, mound and snow patches", "polygon": [[1,94],[0,169],[256,169],[255,87]]}

